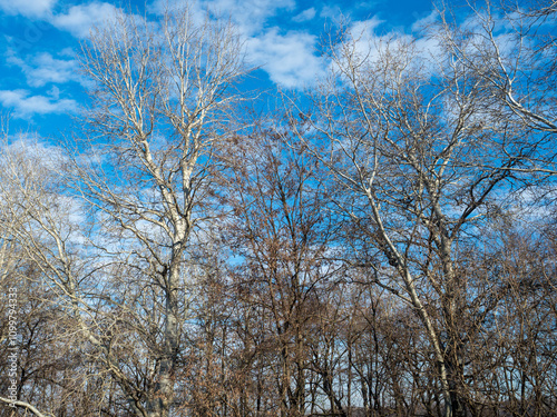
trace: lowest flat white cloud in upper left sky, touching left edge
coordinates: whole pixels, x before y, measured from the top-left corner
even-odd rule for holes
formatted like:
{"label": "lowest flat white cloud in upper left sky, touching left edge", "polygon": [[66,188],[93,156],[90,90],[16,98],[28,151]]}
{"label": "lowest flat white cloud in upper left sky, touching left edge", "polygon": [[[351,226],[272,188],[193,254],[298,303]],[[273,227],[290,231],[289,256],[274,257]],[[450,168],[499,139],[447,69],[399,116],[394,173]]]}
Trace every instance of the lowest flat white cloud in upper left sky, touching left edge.
{"label": "lowest flat white cloud in upper left sky, touching left edge", "polygon": [[[56,98],[57,91],[51,91],[55,97],[29,96],[26,90],[0,90],[0,102],[6,108],[13,109],[14,118],[28,118],[32,115],[75,112],[78,103],[75,100]],[[59,93],[59,91],[58,91]]]}

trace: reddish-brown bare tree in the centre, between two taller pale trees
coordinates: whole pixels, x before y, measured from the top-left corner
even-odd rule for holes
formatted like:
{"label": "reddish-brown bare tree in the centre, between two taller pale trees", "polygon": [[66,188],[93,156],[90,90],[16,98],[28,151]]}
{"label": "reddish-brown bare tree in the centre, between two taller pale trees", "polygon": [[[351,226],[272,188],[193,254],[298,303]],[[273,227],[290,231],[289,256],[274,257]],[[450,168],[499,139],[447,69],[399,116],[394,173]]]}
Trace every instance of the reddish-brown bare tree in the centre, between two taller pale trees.
{"label": "reddish-brown bare tree in the centre, between two taller pale trees", "polygon": [[[321,294],[335,270],[328,259],[334,225],[307,157],[263,127],[231,146],[233,210],[227,230],[244,261],[236,268],[238,297],[264,319],[261,359],[275,379],[281,416],[307,408],[310,340]],[[263,355],[264,351],[267,355]]]}

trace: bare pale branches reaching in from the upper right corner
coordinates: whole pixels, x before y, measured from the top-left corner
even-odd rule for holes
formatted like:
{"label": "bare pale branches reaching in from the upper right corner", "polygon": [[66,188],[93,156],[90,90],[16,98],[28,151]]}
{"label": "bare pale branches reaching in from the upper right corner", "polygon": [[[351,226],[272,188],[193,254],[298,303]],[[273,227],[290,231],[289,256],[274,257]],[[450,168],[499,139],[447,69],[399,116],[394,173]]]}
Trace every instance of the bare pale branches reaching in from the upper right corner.
{"label": "bare pale branches reaching in from the upper right corner", "polygon": [[431,36],[476,77],[491,117],[528,127],[539,147],[527,168],[555,173],[550,141],[557,133],[555,1],[470,4],[462,22],[440,11]]}

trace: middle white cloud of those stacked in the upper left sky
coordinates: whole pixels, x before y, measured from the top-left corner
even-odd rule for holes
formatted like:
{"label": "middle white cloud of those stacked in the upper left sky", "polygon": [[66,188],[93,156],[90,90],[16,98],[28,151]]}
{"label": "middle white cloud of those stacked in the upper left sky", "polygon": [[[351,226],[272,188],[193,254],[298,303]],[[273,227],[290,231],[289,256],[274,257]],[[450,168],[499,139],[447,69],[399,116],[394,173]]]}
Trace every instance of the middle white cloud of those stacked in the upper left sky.
{"label": "middle white cloud of those stacked in the upper left sky", "polygon": [[14,56],[8,57],[7,61],[21,68],[27,77],[27,83],[31,87],[42,87],[49,82],[81,82],[78,62],[75,59],[56,59],[50,53],[43,52],[32,57],[28,62]]}

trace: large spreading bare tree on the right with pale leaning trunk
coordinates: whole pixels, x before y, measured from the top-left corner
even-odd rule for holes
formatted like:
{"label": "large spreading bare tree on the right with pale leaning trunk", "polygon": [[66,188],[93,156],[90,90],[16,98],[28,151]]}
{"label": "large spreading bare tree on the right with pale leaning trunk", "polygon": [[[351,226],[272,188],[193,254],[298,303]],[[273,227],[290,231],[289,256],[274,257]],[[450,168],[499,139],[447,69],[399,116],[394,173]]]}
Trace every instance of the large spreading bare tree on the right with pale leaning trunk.
{"label": "large spreading bare tree on the right with pale leaning trunk", "polygon": [[311,126],[299,131],[300,146],[344,187],[336,206],[364,241],[351,261],[412,306],[434,354],[444,415],[460,416],[468,344],[460,245],[505,203],[495,191],[512,187],[509,168],[528,163],[537,143],[522,140],[524,125],[491,117],[485,86],[462,59],[403,37],[343,36],[330,46],[331,73],[310,92],[312,108],[293,113]]}

